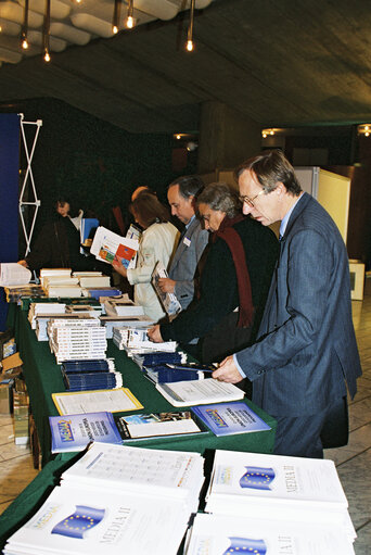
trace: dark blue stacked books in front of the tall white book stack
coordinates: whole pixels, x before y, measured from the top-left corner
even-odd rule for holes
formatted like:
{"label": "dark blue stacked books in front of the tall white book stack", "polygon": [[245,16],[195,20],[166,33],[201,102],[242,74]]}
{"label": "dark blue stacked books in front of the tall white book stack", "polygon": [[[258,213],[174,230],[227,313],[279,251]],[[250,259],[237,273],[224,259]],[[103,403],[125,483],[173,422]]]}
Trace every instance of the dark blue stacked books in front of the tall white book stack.
{"label": "dark blue stacked books in front of the tall white book stack", "polygon": [[117,389],[123,387],[123,376],[115,371],[114,360],[69,361],[61,367],[63,381],[68,391]]}

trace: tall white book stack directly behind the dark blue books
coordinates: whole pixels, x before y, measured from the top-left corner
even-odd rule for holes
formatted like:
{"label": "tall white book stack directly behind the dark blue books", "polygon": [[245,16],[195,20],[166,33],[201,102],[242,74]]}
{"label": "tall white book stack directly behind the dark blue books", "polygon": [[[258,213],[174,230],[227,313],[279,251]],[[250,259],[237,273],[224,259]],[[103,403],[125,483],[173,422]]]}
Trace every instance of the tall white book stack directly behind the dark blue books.
{"label": "tall white book stack directly behind the dark blue books", "polygon": [[81,358],[105,358],[105,329],[97,318],[80,316],[75,319],[50,319],[48,336],[57,364]]}

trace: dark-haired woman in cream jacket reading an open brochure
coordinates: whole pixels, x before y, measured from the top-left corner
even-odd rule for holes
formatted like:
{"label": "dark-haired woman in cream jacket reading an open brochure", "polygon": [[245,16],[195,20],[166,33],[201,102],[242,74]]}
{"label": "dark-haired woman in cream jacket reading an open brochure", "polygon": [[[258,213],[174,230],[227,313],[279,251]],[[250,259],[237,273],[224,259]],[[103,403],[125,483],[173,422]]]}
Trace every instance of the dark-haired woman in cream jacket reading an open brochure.
{"label": "dark-haired woman in cream jacket reading an open brochure", "polygon": [[170,215],[155,194],[141,192],[132,202],[130,211],[143,229],[135,269],[126,269],[118,257],[113,267],[135,286],[135,301],[141,304],[144,314],[158,321],[165,316],[163,306],[151,283],[153,269],[158,261],[167,268],[176,250],[179,231],[170,224]]}

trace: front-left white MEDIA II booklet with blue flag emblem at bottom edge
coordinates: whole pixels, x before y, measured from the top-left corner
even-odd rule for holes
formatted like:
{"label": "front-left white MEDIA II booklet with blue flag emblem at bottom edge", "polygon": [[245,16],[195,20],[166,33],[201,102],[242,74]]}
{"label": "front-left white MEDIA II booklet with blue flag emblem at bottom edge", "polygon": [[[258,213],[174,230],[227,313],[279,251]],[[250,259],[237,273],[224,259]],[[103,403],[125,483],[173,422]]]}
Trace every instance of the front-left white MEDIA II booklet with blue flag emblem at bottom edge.
{"label": "front-left white MEDIA II booklet with blue flag emblem at bottom edge", "polygon": [[189,516],[179,501],[62,485],[9,539],[4,553],[174,555]]}

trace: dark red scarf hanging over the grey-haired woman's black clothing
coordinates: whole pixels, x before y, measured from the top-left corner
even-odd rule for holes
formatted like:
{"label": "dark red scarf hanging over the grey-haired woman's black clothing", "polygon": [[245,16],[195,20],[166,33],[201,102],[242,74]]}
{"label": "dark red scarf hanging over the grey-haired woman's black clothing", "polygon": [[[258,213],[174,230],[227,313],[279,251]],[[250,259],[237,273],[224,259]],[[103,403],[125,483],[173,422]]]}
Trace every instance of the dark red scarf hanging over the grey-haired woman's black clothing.
{"label": "dark red scarf hanging over the grey-haired woman's black clothing", "polygon": [[229,247],[231,251],[235,274],[238,279],[239,288],[239,328],[245,328],[252,325],[254,316],[253,297],[252,297],[252,285],[250,281],[248,269],[246,265],[245,250],[242,244],[241,237],[233,228],[234,224],[242,222],[244,216],[239,214],[238,216],[230,218],[228,216],[221,222],[219,229],[212,234],[213,242],[216,241],[217,237],[220,237]]}

